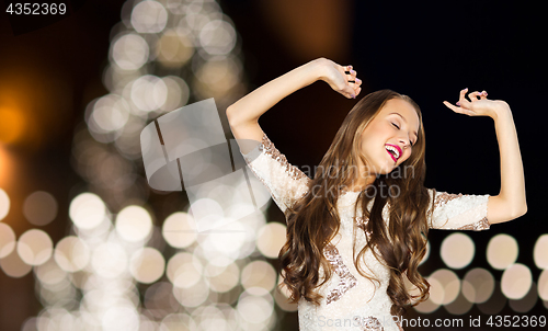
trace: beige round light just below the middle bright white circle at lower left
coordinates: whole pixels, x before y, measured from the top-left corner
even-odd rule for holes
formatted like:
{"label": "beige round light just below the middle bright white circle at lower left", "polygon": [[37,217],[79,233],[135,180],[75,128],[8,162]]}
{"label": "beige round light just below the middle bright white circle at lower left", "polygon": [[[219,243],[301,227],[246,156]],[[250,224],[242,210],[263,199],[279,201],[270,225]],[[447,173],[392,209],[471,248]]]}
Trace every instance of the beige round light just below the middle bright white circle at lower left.
{"label": "beige round light just below the middle bright white circle at lower left", "polygon": [[158,281],[164,269],[163,255],[150,247],[136,251],[129,261],[129,273],[139,283],[150,284]]}

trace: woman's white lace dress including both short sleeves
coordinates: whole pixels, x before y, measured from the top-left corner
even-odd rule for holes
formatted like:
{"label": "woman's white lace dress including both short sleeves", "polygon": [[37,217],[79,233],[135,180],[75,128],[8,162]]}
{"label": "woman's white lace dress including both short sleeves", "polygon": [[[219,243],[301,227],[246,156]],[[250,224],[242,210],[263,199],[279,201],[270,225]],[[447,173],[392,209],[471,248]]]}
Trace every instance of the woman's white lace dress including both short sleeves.
{"label": "woman's white lace dress including both short sleeves", "polygon": [[[282,209],[293,204],[308,192],[311,181],[297,167],[287,162],[284,155],[274,144],[263,136],[262,142],[253,150],[243,155],[246,163],[254,175],[266,186],[273,201]],[[484,230],[490,224],[487,219],[487,203],[489,195],[463,195],[437,192],[427,189],[434,210],[429,222],[434,229]],[[323,254],[334,266],[332,277],[317,288],[323,299],[320,306],[308,303],[304,297],[298,301],[298,319],[300,331],[317,330],[403,330],[390,315],[392,301],[386,289],[390,273],[388,267],[379,263],[370,251],[364,254],[361,266],[366,272],[373,272],[380,282],[373,283],[363,277],[353,263],[353,248],[357,252],[366,244],[364,231],[356,231],[354,226],[363,226],[362,209],[358,206],[357,217],[354,204],[359,192],[347,191],[339,197],[338,212],[341,228]],[[373,205],[369,202],[368,210]],[[431,204],[432,205],[432,204]],[[429,207],[429,212],[431,208]],[[385,222],[388,220],[389,205],[383,210]],[[430,214],[429,214],[430,215]],[[322,271],[320,270],[320,279]]]}

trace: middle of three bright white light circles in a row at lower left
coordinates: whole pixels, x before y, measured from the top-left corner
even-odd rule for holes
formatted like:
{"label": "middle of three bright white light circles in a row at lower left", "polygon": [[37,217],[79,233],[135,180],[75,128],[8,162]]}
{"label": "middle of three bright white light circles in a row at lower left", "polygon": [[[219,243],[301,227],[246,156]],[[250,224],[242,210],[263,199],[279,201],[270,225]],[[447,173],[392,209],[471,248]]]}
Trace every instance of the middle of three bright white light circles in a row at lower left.
{"label": "middle of three bright white light circles in a row at lower left", "polygon": [[139,206],[128,206],[116,216],[116,232],[128,242],[144,240],[152,230],[152,219]]}

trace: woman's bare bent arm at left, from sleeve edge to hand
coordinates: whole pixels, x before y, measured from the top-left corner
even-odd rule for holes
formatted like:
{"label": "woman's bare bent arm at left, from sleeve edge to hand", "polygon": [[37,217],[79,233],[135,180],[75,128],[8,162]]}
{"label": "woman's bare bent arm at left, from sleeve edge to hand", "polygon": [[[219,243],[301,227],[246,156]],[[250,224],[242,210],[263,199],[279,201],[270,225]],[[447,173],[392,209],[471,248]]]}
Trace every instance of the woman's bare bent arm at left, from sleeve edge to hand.
{"label": "woman's bare bent arm at left, from sleeve edge to hand", "polygon": [[342,67],[332,60],[318,58],[261,85],[230,105],[227,118],[240,151],[247,153],[261,141],[263,130],[259,126],[259,117],[262,114],[285,96],[317,80],[326,81],[346,98],[355,98],[362,90],[362,81],[351,69],[351,66]]}

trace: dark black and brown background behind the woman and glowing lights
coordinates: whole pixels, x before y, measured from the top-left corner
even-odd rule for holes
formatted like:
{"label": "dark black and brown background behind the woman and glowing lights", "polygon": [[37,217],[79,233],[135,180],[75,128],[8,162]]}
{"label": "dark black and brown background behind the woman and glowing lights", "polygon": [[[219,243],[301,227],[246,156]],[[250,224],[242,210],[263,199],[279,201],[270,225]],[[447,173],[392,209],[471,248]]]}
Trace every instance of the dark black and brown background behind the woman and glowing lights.
{"label": "dark black and brown background behind the woman and glowing lights", "polygon": [[[54,243],[66,235],[69,192],[82,182],[69,162],[72,134],[83,119],[85,105],[107,93],[101,76],[107,64],[109,35],[121,20],[123,3],[78,1],[65,19],[28,32],[14,28],[4,11],[0,13],[0,107],[10,98],[24,99],[30,105],[23,114],[28,119],[21,128],[23,134],[2,146],[12,156],[10,168],[0,159],[0,186],[10,192],[12,201],[10,215],[2,221],[18,237],[31,226],[16,210],[24,196],[37,190],[67,197],[58,201],[58,219],[43,227]],[[546,4],[334,0],[224,0],[220,4],[241,38],[251,89],[313,58],[327,57],[354,66],[364,81],[358,99],[388,88],[416,101],[427,136],[427,187],[499,193],[493,121],[455,114],[442,102],[456,102],[464,88],[487,90],[490,99],[506,101],[522,150],[528,213],[494,225],[489,232],[467,231],[477,246],[470,267],[487,265],[482,252],[491,237],[511,233],[520,243],[517,262],[528,265],[534,281],[538,279],[533,246],[538,236],[548,232],[541,209],[548,144]],[[324,82],[316,82],[281,101],[261,117],[260,125],[289,162],[313,167],[355,102]],[[269,215],[284,221],[275,207]],[[434,250],[448,233],[431,232]],[[433,259],[423,274],[442,263]],[[499,273],[494,276],[500,279]],[[0,272],[0,330],[19,330],[39,309],[32,273],[10,278]],[[443,309],[438,311],[442,316]],[[515,315],[507,306],[502,313]],[[472,308],[469,315],[481,313]],[[547,310],[539,300],[529,315],[546,316]],[[288,313],[284,324],[297,330],[296,312]]]}

